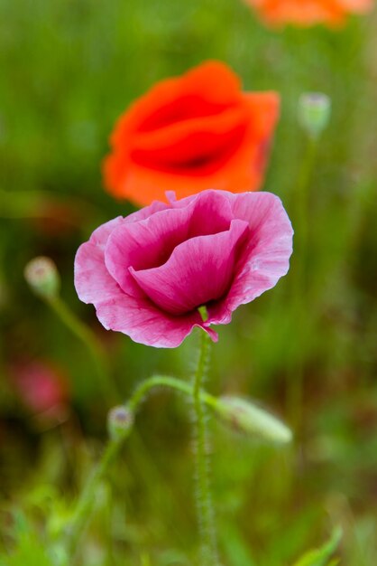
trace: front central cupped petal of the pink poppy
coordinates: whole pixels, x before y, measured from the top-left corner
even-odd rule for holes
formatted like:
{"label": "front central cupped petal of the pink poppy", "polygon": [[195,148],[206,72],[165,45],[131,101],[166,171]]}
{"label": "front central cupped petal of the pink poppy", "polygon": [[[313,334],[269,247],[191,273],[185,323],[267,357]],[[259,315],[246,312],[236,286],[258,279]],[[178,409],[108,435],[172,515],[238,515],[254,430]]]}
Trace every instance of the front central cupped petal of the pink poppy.
{"label": "front central cupped petal of the pink poppy", "polygon": [[229,231],[184,241],[161,267],[140,271],[130,268],[130,272],[165,312],[189,313],[222,297],[229,288],[236,252],[246,231],[247,222],[234,220]]}

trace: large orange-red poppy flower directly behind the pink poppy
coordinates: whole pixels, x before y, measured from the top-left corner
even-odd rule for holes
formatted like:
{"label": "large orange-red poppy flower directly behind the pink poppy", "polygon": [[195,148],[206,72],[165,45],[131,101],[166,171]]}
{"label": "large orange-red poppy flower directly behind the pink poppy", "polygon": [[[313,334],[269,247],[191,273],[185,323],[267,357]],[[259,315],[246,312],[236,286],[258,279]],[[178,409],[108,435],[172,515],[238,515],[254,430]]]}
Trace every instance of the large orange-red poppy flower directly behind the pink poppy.
{"label": "large orange-red poppy flower directly behind the pink poppy", "polygon": [[243,92],[219,61],[162,80],[119,118],[104,163],[107,190],[138,204],[207,188],[262,184],[279,114],[275,92]]}

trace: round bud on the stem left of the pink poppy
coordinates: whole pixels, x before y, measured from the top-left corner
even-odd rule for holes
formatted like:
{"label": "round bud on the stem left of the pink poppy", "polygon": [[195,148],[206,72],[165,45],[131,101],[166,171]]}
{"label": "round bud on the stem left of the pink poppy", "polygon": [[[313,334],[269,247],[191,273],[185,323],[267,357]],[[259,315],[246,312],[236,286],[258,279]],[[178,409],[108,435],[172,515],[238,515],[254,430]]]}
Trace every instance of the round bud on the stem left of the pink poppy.
{"label": "round bud on the stem left of the pink poppy", "polygon": [[32,259],[23,274],[34,293],[40,297],[53,298],[58,295],[60,276],[52,259],[44,256]]}

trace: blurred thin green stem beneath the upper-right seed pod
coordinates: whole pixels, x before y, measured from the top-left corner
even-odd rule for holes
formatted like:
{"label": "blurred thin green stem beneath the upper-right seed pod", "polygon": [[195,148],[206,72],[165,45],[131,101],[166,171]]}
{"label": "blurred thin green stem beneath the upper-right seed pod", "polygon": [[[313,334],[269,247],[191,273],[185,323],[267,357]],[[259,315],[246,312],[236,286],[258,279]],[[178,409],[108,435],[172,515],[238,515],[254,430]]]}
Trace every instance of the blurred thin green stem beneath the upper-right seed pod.
{"label": "blurred thin green stem beneath the upper-right seed pod", "polygon": [[[297,432],[301,428],[304,355],[308,339],[308,248],[309,248],[309,186],[317,158],[317,137],[309,137],[302,161],[295,198],[295,269],[293,277],[293,316],[299,329],[299,358],[295,360],[288,374],[288,414],[290,423]],[[297,346],[297,342],[295,342]]]}

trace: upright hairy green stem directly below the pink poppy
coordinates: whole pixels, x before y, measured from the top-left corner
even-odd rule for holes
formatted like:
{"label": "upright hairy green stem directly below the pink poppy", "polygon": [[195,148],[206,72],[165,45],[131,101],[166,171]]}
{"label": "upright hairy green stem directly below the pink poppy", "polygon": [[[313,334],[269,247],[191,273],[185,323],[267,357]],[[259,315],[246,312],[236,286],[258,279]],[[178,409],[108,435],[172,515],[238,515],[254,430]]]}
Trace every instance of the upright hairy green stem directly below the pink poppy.
{"label": "upright hairy green stem directly below the pink poppy", "polygon": [[198,525],[200,532],[200,566],[216,566],[216,564],[218,564],[215,519],[208,474],[207,417],[205,404],[201,398],[201,387],[207,374],[209,354],[210,338],[207,332],[202,332],[200,336],[198,367],[195,373],[194,387],[192,390],[196,433],[195,465]]}

